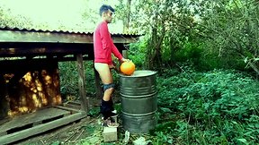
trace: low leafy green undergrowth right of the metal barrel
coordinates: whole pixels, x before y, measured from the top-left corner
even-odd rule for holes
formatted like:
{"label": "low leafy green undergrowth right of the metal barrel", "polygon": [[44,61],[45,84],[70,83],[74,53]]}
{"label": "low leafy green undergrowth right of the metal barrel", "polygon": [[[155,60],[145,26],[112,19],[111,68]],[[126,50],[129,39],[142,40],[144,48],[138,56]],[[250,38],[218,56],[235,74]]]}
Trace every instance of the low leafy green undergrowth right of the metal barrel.
{"label": "low leafy green undergrowth right of the metal barrel", "polygon": [[[157,78],[160,118],[154,132],[155,142],[259,143],[257,81],[233,70],[207,73],[194,72],[188,67],[182,70]],[[172,125],[161,128],[169,120]],[[173,130],[168,132],[168,127]]]}

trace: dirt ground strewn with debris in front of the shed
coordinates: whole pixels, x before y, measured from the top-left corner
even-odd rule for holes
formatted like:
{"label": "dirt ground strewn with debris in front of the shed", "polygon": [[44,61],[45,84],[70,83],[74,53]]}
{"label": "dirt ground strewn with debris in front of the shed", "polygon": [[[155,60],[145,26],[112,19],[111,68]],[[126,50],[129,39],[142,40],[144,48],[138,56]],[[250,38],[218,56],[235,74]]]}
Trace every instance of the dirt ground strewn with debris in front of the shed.
{"label": "dirt ground strewn with debris in front of the shed", "polygon": [[128,142],[125,143],[125,130],[122,128],[120,118],[119,123],[118,141],[104,142],[103,126],[100,124],[100,119],[87,117],[80,122],[67,124],[29,139],[14,142],[12,145],[126,145],[133,144],[133,141],[143,136],[143,134],[130,134]]}

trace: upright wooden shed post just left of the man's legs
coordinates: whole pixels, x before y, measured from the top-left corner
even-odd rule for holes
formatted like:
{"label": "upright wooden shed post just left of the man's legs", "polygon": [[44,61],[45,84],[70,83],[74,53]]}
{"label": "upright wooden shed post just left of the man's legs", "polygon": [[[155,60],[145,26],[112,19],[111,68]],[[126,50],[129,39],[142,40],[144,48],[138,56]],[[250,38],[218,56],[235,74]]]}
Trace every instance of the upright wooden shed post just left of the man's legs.
{"label": "upright wooden shed post just left of the man's legs", "polygon": [[89,98],[86,98],[86,95],[85,95],[85,68],[83,64],[82,54],[76,55],[76,65],[77,65],[77,70],[79,74],[78,87],[79,87],[79,94],[81,99],[81,108],[87,114],[89,111]]}

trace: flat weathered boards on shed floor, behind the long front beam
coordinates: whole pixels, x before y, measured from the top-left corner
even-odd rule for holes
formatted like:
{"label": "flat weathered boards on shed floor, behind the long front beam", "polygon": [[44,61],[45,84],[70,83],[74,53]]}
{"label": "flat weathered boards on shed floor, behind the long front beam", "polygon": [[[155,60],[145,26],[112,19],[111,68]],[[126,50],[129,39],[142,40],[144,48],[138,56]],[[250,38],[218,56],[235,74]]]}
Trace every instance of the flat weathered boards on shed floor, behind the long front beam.
{"label": "flat weathered boards on shed floor, behind the long front beam", "polygon": [[44,120],[55,118],[61,115],[69,115],[70,112],[54,107],[40,109],[34,113],[14,117],[11,121],[0,126],[0,132],[20,128],[28,124],[40,124]]}

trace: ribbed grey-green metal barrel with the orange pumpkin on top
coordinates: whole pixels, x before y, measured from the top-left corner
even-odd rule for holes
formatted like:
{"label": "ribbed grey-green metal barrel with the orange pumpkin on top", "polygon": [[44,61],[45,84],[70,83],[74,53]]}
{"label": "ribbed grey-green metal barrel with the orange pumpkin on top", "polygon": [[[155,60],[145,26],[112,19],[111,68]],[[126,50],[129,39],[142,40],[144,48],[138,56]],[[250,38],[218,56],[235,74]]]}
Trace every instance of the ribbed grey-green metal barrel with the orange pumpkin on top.
{"label": "ribbed grey-green metal barrel with the orange pumpkin on top", "polygon": [[147,133],[156,126],[156,72],[135,71],[120,74],[123,128],[133,133]]}

